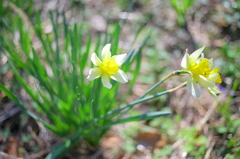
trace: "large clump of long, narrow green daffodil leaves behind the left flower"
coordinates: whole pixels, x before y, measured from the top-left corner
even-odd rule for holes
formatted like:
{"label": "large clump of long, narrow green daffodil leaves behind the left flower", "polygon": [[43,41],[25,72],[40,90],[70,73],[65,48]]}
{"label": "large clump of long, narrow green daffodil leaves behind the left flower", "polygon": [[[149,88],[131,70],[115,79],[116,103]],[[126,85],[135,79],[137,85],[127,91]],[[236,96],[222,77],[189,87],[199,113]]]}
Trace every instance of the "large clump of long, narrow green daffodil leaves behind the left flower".
{"label": "large clump of long, narrow green daffodil leaves behind the left flower", "polygon": [[[10,4],[21,12],[13,3]],[[128,51],[121,69],[124,72],[131,72],[132,77],[125,98],[119,101],[118,83],[112,81],[113,87],[109,90],[102,87],[100,79],[89,82],[86,79],[86,72],[92,67],[89,60],[90,53],[95,52],[99,55],[106,43],[112,44],[112,55],[123,51],[119,47],[120,25],[114,24],[113,31],[107,30],[99,34],[94,41],[91,34],[84,32],[86,27],[84,21],[70,25],[64,13],[50,12],[49,16],[53,27],[51,33],[43,32],[40,14],[36,13],[34,16],[36,23],[31,23],[25,14],[16,15],[14,21],[6,21],[5,34],[1,35],[2,51],[8,57],[8,64],[21,87],[31,98],[31,105],[38,115],[28,110],[22,101],[0,84],[0,89],[28,115],[58,136],[66,138],[65,142],[48,155],[48,158],[59,156],[80,140],[96,146],[114,124],[147,120],[169,114],[152,112],[121,118],[122,110],[129,110],[135,104],[169,93],[166,91],[119,107],[121,103],[125,103],[127,94],[139,74],[142,49],[149,35],[138,49]],[[59,23],[60,18],[63,19],[62,23]],[[141,30],[140,27],[139,31],[136,31],[134,39]],[[19,34],[19,39],[15,39],[15,32]],[[33,38],[37,38],[42,49],[34,48]],[[31,85],[29,77],[33,77]],[[45,116],[47,120],[41,119],[41,116]]]}

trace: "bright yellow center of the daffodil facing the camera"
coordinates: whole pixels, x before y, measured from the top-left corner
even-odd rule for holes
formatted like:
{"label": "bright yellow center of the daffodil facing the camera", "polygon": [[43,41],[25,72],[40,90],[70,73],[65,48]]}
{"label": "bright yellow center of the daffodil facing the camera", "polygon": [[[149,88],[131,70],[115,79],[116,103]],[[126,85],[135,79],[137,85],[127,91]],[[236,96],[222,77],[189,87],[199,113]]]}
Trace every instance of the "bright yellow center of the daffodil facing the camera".
{"label": "bright yellow center of the daffodil facing the camera", "polygon": [[115,59],[108,59],[103,61],[99,66],[104,74],[113,75],[119,70],[119,65],[116,63]]}

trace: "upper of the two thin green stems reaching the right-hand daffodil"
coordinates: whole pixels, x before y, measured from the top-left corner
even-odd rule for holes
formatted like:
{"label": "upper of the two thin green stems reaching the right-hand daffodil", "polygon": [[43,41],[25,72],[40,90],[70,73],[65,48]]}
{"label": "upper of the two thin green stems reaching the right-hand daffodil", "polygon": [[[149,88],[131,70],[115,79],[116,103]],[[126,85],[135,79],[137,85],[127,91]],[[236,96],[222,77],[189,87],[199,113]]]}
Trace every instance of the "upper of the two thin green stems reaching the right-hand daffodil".
{"label": "upper of the two thin green stems reaching the right-hand daffodil", "polygon": [[177,70],[177,71],[173,71],[172,73],[168,74],[163,80],[159,81],[158,83],[156,83],[154,86],[152,86],[149,90],[147,90],[142,96],[140,96],[138,99],[142,99],[144,98],[147,94],[149,94],[152,90],[154,90],[156,87],[158,87],[160,84],[162,84],[164,81],[166,81],[167,79],[169,79],[172,76],[179,76],[181,74],[185,74],[188,73],[185,70]]}

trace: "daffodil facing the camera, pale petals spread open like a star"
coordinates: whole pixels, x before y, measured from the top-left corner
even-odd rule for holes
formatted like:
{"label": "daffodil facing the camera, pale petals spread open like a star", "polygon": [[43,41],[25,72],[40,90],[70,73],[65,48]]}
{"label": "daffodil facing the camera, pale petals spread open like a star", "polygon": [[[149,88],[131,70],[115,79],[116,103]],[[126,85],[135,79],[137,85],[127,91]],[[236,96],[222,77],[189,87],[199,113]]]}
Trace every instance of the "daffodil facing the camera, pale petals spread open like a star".
{"label": "daffodil facing the camera, pale petals spread open like a star", "polygon": [[111,56],[110,47],[111,44],[104,46],[102,50],[102,61],[97,57],[96,53],[92,54],[91,61],[97,67],[91,68],[87,77],[89,81],[92,81],[102,76],[101,81],[103,86],[108,89],[112,88],[110,78],[119,83],[128,82],[126,74],[120,69],[127,54]]}

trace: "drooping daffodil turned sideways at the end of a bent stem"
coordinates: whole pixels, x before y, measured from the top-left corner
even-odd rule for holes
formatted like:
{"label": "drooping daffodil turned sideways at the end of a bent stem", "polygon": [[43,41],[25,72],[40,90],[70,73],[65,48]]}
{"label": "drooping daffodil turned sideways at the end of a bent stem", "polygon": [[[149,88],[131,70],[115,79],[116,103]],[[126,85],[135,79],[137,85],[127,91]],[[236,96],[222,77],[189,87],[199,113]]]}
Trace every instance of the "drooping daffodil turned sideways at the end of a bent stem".
{"label": "drooping daffodil turned sideways at the end of a bent stem", "polygon": [[[222,82],[218,68],[213,68],[212,59],[204,58],[203,49],[204,47],[191,55],[186,53],[181,62],[181,66],[190,74],[187,88],[196,98],[199,98],[201,94],[197,83],[207,89],[213,96],[216,96],[217,93],[220,93],[216,83]],[[199,57],[200,55],[201,57]]]}

